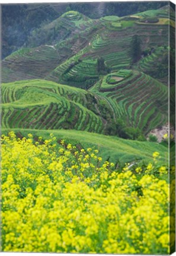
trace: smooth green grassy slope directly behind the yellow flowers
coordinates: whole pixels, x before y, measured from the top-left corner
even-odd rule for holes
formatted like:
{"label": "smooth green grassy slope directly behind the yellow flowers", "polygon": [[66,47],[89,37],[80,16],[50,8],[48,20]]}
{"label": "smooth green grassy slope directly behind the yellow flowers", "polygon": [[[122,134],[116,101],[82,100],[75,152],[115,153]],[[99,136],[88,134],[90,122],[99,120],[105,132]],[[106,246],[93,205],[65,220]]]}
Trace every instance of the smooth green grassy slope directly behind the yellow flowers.
{"label": "smooth green grassy slope directly behind the yellow flowers", "polygon": [[137,142],[76,130],[2,129],[2,134],[7,134],[10,130],[14,130],[18,136],[27,136],[28,133],[32,133],[34,137],[42,136],[44,139],[48,139],[50,133],[53,133],[57,140],[64,139],[66,143],[79,145],[85,149],[89,147],[98,148],[104,161],[107,159],[112,162],[120,161],[121,163],[140,159],[152,161],[153,152],[158,151],[161,154],[161,161],[167,164],[168,149],[154,142]]}

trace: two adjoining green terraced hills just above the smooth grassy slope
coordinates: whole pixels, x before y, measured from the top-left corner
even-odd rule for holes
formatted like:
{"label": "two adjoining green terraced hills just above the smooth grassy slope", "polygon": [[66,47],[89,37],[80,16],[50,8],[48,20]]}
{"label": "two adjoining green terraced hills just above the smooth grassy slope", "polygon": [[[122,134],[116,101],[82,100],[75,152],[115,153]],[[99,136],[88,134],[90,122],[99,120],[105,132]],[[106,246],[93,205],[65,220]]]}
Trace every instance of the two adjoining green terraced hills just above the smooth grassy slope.
{"label": "two adjoining green terraced hills just above the smooth grassy slope", "polygon": [[89,91],[44,80],[16,81],[2,84],[2,127],[137,139],[167,122],[167,94],[160,82],[129,70],[104,76]]}

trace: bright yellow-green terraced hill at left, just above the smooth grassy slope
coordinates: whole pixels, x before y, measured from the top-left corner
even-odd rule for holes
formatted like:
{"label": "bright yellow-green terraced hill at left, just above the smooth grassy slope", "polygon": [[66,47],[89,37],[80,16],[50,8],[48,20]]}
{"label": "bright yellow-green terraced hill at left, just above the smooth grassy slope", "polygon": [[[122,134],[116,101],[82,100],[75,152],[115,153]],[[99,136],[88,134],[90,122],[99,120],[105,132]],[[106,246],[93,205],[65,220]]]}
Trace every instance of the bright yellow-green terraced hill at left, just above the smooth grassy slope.
{"label": "bright yellow-green terraced hill at left, just above the smooth grassy slope", "polygon": [[101,97],[78,88],[42,80],[2,84],[2,126],[6,128],[76,129],[102,133],[113,116]]}

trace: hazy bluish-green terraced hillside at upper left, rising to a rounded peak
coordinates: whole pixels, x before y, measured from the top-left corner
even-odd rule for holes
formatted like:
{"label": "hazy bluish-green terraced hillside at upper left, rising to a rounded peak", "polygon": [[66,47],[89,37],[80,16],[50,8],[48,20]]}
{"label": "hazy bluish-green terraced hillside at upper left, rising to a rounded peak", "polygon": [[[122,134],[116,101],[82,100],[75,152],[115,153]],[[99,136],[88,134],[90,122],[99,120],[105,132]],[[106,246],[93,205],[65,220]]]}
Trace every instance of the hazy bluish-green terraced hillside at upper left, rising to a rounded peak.
{"label": "hazy bluish-green terraced hillside at upper left, rising to a rounded peak", "polygon": [[78,12],[74,16],[70,11],[52,23],[36,28],[28,38],[26,45],[29,47],[2,60],[2,81],[45,78],[60,63],[84,48],[101,26],[98,20]]}

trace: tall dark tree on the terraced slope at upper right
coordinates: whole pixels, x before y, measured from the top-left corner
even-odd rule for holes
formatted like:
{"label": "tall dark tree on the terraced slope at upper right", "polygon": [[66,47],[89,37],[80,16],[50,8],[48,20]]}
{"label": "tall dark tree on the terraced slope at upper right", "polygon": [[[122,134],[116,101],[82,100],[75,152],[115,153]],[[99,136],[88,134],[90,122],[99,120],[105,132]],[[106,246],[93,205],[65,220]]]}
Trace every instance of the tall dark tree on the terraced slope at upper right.
{"label": "tall dark tree on the terraced slope at upper right", "polygon": [[131,55],[132,55],[132,60],[133,63],[136,63],[141,56],[142,50],[141,50],[141,40],[139,36],[135,35],[132,38],[132,46],[131,46]]}

